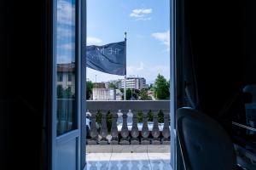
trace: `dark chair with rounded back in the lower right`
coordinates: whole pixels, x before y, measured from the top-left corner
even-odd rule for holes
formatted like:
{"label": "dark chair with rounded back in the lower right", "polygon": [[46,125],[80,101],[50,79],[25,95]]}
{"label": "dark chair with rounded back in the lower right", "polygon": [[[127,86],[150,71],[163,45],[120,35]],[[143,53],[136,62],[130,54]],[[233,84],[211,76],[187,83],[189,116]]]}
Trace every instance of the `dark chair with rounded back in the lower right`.
{"label": "dark chair with rounded back in the lower right", "polygon": [[177,137],[185,170],[236,169],[236,153],[229,135],[200,111],[177,110]]}

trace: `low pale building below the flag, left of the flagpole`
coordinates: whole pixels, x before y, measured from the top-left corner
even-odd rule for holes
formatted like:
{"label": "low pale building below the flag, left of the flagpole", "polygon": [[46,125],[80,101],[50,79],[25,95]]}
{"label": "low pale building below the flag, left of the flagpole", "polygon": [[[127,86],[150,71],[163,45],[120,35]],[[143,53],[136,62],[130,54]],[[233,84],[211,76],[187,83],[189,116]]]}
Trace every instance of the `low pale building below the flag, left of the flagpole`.
{"label": "low pale building below the flag, left of the flagpole", "polygon": [[93,100],[115,100],[116,94],[113,88],[92,88]]}

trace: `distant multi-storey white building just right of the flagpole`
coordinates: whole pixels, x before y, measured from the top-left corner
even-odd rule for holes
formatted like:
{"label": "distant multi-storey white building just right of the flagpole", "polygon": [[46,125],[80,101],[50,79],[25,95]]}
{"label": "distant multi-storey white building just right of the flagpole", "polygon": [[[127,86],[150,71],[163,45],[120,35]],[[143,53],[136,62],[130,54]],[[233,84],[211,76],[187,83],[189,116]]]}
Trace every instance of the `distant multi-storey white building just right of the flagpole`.
{"label": "distant multi-storey white building just right of the flagpole", "polygon": [[[125,79],[121,82],[121,88],[125,88]],[[126,78],[126,89],[143,89],[146,88],[146,79],[143,77],[127,77]]]}

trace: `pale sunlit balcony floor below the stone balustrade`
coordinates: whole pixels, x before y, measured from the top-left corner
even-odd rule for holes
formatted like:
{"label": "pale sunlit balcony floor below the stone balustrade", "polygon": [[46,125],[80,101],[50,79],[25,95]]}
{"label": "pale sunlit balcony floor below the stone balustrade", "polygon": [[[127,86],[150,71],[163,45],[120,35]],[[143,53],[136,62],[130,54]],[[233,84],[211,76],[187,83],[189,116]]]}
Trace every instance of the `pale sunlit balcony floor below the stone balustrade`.
{"label": "pale sunlit balcony floor below the stone balustrade", "polygon": [[[96,150],[97,153],[92,152],[93,147],[88,148],[86,153],[87,170],[171,169],[168,145],[106,145],[101,147],[103,152],[105,151],[104,153],[99,152],[99,147]],[[109,147],[112,151],[106,152]]]}

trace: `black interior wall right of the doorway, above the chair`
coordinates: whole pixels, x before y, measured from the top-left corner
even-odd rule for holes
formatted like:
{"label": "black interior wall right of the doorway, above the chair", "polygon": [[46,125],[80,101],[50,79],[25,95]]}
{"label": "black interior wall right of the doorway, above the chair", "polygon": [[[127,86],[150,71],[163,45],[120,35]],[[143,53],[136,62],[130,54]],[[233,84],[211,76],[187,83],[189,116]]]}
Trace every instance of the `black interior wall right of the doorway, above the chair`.
{"label": "black interior wall right of the doorway, above the chair", "polygon": [[[219,115],[248,83],[256,83],[256,3],[245,1],[183,0],[180,14],[183,29],[178,45],[184,65],[193,58],[199,109],[219,122],[232,111]],[[183,66],[184,66],[183,65]],[[184,75],[191,67],[184,66]],[[186,69],[188,68],[188,69]],[[193,91],[194,95],[195,92]],[[191,94],[193,94],[191,93]]]}

